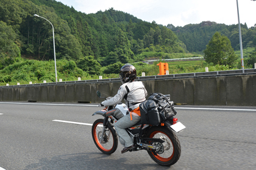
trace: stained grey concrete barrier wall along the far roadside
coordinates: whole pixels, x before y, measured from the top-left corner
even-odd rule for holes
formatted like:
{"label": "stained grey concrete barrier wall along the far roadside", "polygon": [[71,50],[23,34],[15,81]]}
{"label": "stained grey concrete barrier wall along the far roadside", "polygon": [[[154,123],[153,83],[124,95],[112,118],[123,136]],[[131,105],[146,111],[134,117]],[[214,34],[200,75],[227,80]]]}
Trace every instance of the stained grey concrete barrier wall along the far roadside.
{"label": "stained grey concrete barrier wall along the far roadside", "polygon": [[[170,94],[174,103],[215,106],[256,106],[256,75],[174,78],[143,81],[148,93]],[[100,103],[96,91],[108,97],[121,82],[50,84],[0,89],[0,101]]]}

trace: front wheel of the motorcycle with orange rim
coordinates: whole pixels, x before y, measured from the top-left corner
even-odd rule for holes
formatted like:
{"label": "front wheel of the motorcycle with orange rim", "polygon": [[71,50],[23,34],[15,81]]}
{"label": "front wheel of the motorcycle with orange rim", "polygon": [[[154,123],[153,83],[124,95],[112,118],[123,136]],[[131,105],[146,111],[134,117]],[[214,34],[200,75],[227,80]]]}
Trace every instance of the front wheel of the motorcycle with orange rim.
{"label": "front wheel of the motorcycle with orange rim", "polygon": [[113,154],[118,147],[118,137],[113,127],[109,126],[104,132],[102,143],[102,130],[103,130],[103,119],[94,121],[93,127],[91,128],[91,134],[93,135],[93,141],[97,148],[104,154]]}

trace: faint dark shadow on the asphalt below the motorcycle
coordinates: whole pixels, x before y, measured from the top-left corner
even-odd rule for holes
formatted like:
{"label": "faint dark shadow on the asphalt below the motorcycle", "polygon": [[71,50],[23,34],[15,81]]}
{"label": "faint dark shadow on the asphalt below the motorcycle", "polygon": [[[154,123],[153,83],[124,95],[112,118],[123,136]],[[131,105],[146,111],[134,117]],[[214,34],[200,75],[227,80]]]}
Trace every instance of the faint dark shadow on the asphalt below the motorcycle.
{"label": "faint dark shadow on the asphalt below the motorcycle", "polygon": [[[129,157],[134,158],[134,157]],[[156,163],[133,164],[129,158],[114,155],[105,155],[102,153],[80,153],[59,155],[52,158],[41,158],[38,163],[27,165],[25,170],[59,170],[59,169],[172,169],[170,167],[160,166]],[[136,159],[136,158],[135,158]]]}

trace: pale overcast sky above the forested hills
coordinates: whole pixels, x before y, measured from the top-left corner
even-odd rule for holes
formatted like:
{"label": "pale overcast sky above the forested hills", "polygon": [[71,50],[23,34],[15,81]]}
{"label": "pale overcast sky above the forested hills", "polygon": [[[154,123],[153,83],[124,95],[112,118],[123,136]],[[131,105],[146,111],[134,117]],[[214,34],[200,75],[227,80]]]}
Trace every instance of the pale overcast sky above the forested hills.
{"label": "pale overcast sky above the forested hills", "polygon": [[[129,13],[143,21],[175,27],[214,21],[238,24],[236,0],[55,0],[86,14],[111,9]],[[240,23],[256,24],[256,1],[238,0]]]}

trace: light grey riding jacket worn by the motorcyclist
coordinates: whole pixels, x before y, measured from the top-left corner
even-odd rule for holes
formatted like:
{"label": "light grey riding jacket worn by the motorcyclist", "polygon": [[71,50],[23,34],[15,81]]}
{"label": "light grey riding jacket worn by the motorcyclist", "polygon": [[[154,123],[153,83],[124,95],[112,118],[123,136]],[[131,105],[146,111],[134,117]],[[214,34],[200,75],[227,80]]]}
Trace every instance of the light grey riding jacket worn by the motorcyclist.
{"label": "light grey riding jacket worn by the motorcyclist", "polygon": [[124,83],[119,87],[117,94],[113,98],[102,101],[101,104],[104,106],[116,105],[121,103],[124,98],[126,106],[129,107],[129,110],[133,110],[136,109],[141,102],[146,100],[147,95],[148,92],[141,81],[132,81]]}

